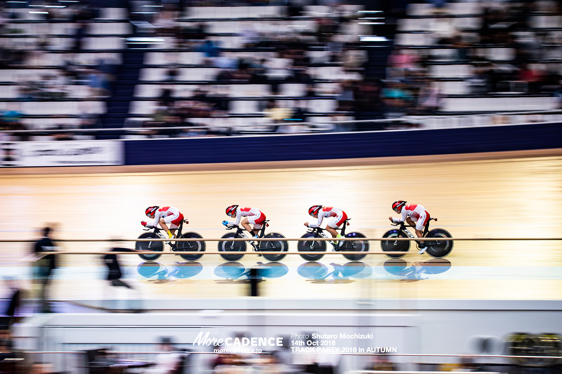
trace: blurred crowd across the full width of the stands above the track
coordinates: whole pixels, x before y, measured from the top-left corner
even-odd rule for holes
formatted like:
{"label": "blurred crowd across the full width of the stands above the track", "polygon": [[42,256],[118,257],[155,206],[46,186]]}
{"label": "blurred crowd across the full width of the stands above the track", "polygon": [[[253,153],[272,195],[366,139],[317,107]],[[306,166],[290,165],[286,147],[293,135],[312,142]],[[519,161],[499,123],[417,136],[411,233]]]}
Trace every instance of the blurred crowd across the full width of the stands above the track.
{"label": "blurred crowd across the full width of the stands above the track", "polygon": [[[357,130],[357,126],[352,125],[300,126],[298,123],[309,122],[310,117],[316,117],[316,121],[330,122],[338,118],[400,118],[406,115],[435,113],[451,95],[562,96],[560,64],[556,63],[562,58],[559,51],[562,36],[559,31],[551,30],[545,25],[537,25],[536,17],[559,17],[561,8],[558,3],[481,2],[477,3],[478,13],[463,16],[463,20],[470,20],[466,23],[451,16],[450,4],[446,1],[430,3],[400,3],[396,7],[403,7],[402,13],[393,10],[394,13],[388,12],[388,15],[392,13],[393,17],[387,17],[386,13],[374,13],[377,17],[370,17],[373,13],[358,16],[358,13],[349,7],[350,4],[343,0],[292,1],[279,4],[263,1],[233,4],[221,0],[163,2],[161,5],[143,3],[142,6],[155,7],[151,10],[157,10],[150,12],[138,2],[124,2],[128,4],[128,8],[124,8],[125,13],[121,15],[123,18],[115,17],[113,21],[130,21],[134,26],[127,24],[131,27],[128,36],[162,40],[163,42],[158,43],[164,43],[163,48],[166,51],[201,53],[204,58],[196,65],[215,69],[209,73],[212,74],[208,79],[209,84],[201,85],[192,91],[191,97],[186,97],[175,92],[179,84],[185,85],[189,81],[181,77],[182,66],[185,64],[162,61],[157,66],[166,69],[165,77],[161,80],[164,87],[160,90],[159,97],[153,98],[158,99],[158,102],[157,105],[151,106],[153,109],[149,115],[152,118],[144,119],[140,124],[131,122],[134,126],[144,127],[205,126],[206,130],[146,130],[134,134],[186,136],[241,133],[241,121],[201,121],[201,118],[224,119],[239,114],[231,110],[233,95],[221,93],[220,89],[216,89],[216,86],[228,84],[262,84],[270,87],[269,100],[262,98],[256,104],[257,107],[247,110],[246,117],[252,118],[248,118],[246,124],[253,124],[256,117],[265,118],[264,121],[257,121],[260,129],[256,130],[256,126],[250,126],[252,129],[242,133]],[[317,4],[323,4],[326,12],[307,11],[307,5]],[[224,28],[223,33],[220,33],[215,26],[221,21],[214,23],[208,20],[199,21],[193,17],[190,19],[189,7],[233,5],[280,6],[282,17],[288,17],[290,20],[291,17],[306,16],[309,17],[307,22],[312,23],[303,22],[305,25],[297,25],[298,27],[290,28],[291,30],[279,32],[276,30],[280,29],[275,27],[258,26],[259,22],[244,22],[244,26],[236,26],[239,29],[230,32],[228,28]],[[417,13],[411,16],[409,11],[406,11],[406,8],[411,9],[419,5],[429,5],[422,17]],[[38,140],[34,135],[42,135],[41,140],[86,139],[86,135],[80,133],[58,136],[17,133],[24,129],[79,130],[81,127],[102,125],[120,127],[117,122],[123,121],[123,115],[129,111],[125,104],[133,98],[130,93],[123,93],[122,90],[117,92],[116,87],[120,84],[119,79],[130,80],[129,73],[121,72],[122,77],[119,78],[117,70],[121,61],[104,58],[103,53],[97,53],[96,57],[83,58],[89,51],[86,44],[89,43],[87,39],[91,38],[88,37],[97,35],[93,34],[93,26],[99,20],[109,20],[104,18],[107,15],[105,9],[81,3],[69,3],[64,8],[41,8],[41,12],[35,13],[44,14],[38,15],[37,21],[43,24],[63,22],[66,25],[64,38],[61,38],[61,35],[43,33],[35,35],[34,38],[20,38],[22,42],[14,46],[10,44],[15,40],[12,37],[25,36],[27,31],[24,30],[26,22],[21,20],[26,9],[13,6],[15,5],[0,9],[0,69],[29,72],[19,74],[14,80],[16,83],[0,85],[0,90],[11,89],[11,96],[5,97],[18,104],[10,107],[10,103],[2,103],[4,105],[0,109],[0,128],[14,131],[13,134],[19,136],[12,139],[10,136],[0,135],[0,140]],[[143,9],[144,11],[139,11]],[[376,22],[357,22],[358,17],[365,15],[369,17],[364,17],[363,20]],[[416,29],[408,23],[410,20],[420,25],[420,30],[414,33],[424,31],[429,35],[424,37],[427,39],[425,44],[408,41],[412,40],[412,35],[420,35],[408,33],[408,30]],[[425,23],[420,20],[425,20]],[[33,22],[30,19],[28,21]],[[278,24],[281,28],[286,26],[288,21],[268,22],[269,26]],[[108,22],[107,25],[111,23]],[[384,28],[376,24],[383,24]],[[396,26],[396,30],[392,29],[391,24]],[[301,26],[303,29],[300,29]],[[384,52],[388,48],[375,48],[376,51],[369,52],[370,56],[365,48],[365,41],[360,41],[359,36],[377,35],[379,31],[384,31],[383,34],[386,33],[384,35],[389,39],[396,36],[394,47],[391,47],[389,55]],[[241,42],[237,42],[235,46],[231,45],[232,42],[228,40],[234,39],[228,39],[229,37],[235,37]],[[60,39],[69,42],[62,43],[64,47],[53,47],[60,43]],[[123,40],[125,38],[121,38],[125,45]],[[140,47],[156,48],[152,49],[153,51],[160,48],[150,43],[152,42],[147,41],[146,45],[138,44]],[[52,58],[53,51],[64,53],[60,53],[61,61],[54,67],[49,67],[45,61]],[[267,53],[260,57],[255,51]],[[376,58],[382,56],[383,60],[387,60],[384,73],[375,72],[373,66],[376,64],[369,61],[373,60],[375,52],[378,53]],[[459,67],[458,71],[455,66]],[[45,69],[46,67],[49,69]],[[320,75],[318,70],[315,70],[332,67],[332,72]],[[450,75],[443,72],[443,67],[447,67]],[[196,77],[194,80],[197,80]],[[282,94],[279,86],[286,84],[300,84],[306,88],[290,95]],[[13,90],[14,86],[16,90]],[[283,95],[291,98],[278,100]],[[315,99],[332,99],[335,104],[311,111],[311,107],[315,106]],[[116,101],[119,103],[112,106],[114,109],[111,113],[119,113],[120,116],[117,116],[119,119],[110,118],[108,124],[98,120],[103,117],[100,113],[58,117],[36,115],[37,118],[49,117],[49,121],[30,121],[28,113],[19,106],[25,101],[66,100]],[[325,118],[318,118],[321,116]],[[131,123],[125,123],[125,127],[131,127]],[[215,123],[217,125],[212,126]],[[380,125],[380,128],[384,126]]]}

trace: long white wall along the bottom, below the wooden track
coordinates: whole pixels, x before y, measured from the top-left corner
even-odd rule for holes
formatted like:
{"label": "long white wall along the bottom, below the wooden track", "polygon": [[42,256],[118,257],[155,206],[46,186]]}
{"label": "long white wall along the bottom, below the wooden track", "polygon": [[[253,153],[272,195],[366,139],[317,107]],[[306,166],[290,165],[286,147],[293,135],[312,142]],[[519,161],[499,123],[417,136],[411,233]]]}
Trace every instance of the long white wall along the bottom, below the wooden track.
{"label": "long white wall along the bottom, below the wooden track", "polygon": [[[212,345],[193,345],[200,332],[205,335],[208,331],[211,339],[283,337],[285,345],[295,348],[293,352],[297,347],[307,345],[306,341],[301,343],[303,345],[294,343],[298,339],[291,339],[291,334],[311,336],[316,333],[337,335],[337,339],[317,339],[334,340],[334,344],[330,342],[316,347],[329,348],[334,353],[345,353],[346,349],[352,353],[353,348],[368,352],[372,347],[396,347],[396,353],[413,354],[479,353],[475,352],[475,339],[486,336],[497,342],[486,354],[503,354],[504,345],[499,342],[513,332],[562,332],[560,300],[176,299],[144,300],[145,307],[157,307],[146,305],[151,302],[157,302],[160,309],[174,310],[165,313],[43,314],[20,323],[13,333],[18,348],[43,351],[111,348],[148,352],[156,350],[155,343],[160,336],[173,336],[182,348],[212,352]],[[81,300],[81,303],[88,302]],[[355,337],[341,338],[340,334]],[[359,338],[353,334],[358,334]],[[269,340],[270,343],[277,342],[275,339]],[[311,337],[305,340],[314,341]],[[239,348],[260,348],[263,352],[283,349],[277,345]],[[326,354],[326,350],[321,353]],[[194,355],[194,363],[204,368],[210,357]],[[293,355],[295,362],[303,357],[307,355]],[[334,356],[334,359],[338,357]],[[343,355],[339,359],[341,372],[364,368],[364,357]],[[481,360],[507,363],[501,358]],[[446,363],[458,362],[458,359],[397,356],[393,361]],[[403,364],[401,369],[414,370],[414,367]]]}

